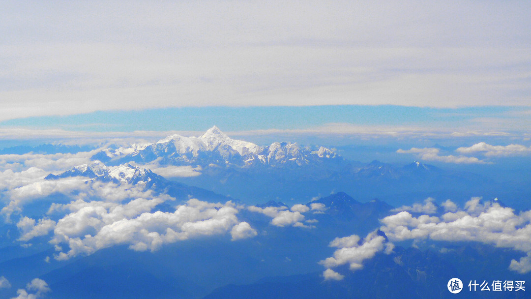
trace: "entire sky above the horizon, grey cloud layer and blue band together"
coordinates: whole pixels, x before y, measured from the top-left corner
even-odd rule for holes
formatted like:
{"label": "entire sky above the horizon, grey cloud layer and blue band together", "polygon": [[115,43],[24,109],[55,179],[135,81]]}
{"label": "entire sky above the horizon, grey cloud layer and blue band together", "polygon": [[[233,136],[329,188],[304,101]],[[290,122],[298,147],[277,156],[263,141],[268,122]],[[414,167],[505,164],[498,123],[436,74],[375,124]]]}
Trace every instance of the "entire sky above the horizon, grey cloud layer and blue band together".
{"label": "entire sky above the horizon, grey cloud layer and blue band together", "polygon": [[153,141],[218,125],[260,143],[527,145],[529,11],[528,1],[8,1],[0,139]]}

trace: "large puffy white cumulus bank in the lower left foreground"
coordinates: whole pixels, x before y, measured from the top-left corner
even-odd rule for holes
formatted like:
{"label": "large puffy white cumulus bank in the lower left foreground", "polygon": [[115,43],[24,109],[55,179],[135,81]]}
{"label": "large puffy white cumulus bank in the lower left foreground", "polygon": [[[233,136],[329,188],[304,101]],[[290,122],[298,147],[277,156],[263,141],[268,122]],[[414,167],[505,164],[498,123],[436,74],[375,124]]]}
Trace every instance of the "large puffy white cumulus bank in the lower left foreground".
{"label": "large puffy white cumulus bank in the lower left foreground", "polygon": [[118,244],[128,244],[136,251],[156,251],[164,244],[201,235],[230,232],[232,240],[256,236],[248,223],[238,221],[238,209],[230,201],[222,204],[190,199],[175,212],[150,212],[165,200],[135,199],[126,204],[76,201],[66,205],[74,211],[57,221],[50,242],[67,244],[69,250],[64,252],[57,246],[55,259],[92,254]]}

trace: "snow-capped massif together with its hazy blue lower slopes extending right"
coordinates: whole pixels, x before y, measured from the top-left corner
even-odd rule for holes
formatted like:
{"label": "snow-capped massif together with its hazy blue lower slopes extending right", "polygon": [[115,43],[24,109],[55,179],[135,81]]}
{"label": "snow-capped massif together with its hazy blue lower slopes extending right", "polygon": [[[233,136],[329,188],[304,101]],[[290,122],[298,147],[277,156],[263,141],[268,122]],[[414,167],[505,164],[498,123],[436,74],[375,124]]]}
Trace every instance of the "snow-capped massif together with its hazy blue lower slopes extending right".
{"label": "snow-capped massif together with its hazy blue lower slopes extending right", "polygon": [[198,167],[198,176],[174,176],[171,180],[251,204],[292,199],[302,203],[343,190],[363,201],[380,198],[401,206],[427,197],[493,198],[503,196],[501,192],[506,190],[485,176],[419,161],[405,166],[378,160],[364,164],[325,147],[301,147],[292,142],[259,146],[232,139],[216,126],[199,137],[171,135],[156,143],[108,148],[92,159],[108,166],[133,162]]}

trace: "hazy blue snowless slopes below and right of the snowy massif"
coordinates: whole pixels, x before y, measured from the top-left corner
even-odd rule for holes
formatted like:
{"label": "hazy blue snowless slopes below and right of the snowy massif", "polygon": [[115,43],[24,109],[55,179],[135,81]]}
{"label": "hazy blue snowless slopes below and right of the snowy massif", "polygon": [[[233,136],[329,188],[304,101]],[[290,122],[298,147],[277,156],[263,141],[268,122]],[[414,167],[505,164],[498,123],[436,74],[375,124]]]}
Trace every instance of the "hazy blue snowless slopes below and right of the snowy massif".
{"label": "hazy blue snowless slopes below and right of the snowy massif", "polygon": [[[406,166],[380,161],[362,164],[311,163],[296,167],[203,167],[201,175],[172,180],[200,186],[220,194],[230,194],[248,203],[269,200],[298,203],[342,190],[356,199],[379,198],[402,206],[427,197],[469,199],[502,197],[503,185],[488,177],[441,169],[415,161]],[[464,203],[461,202],[461,203]]]}

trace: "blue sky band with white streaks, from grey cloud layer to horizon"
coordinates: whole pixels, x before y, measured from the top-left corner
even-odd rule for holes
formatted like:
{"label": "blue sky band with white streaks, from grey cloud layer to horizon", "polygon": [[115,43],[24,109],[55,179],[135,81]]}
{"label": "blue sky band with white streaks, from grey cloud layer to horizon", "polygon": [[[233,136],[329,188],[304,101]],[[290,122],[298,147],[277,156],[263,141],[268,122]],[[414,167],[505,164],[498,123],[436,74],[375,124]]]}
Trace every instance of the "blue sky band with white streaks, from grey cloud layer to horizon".
{"label": "blue sky band with white streaks, from grey cloud layer to horizon", "polygon": [[[0,122],[0,139],[99,143],[115,138],[156,141],[170,134],[200,135],[213,125],[260,144],[393,144],[469,146],[477,142],[529,143],[531,110],[483,106],[427,108],[394,105],[169,107],[33,116]],[[89,140],[89,141],[87,141]],[[90,141],[91,140],[91,141]]]}

